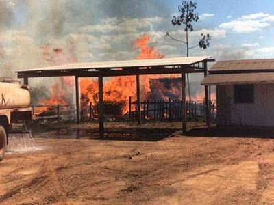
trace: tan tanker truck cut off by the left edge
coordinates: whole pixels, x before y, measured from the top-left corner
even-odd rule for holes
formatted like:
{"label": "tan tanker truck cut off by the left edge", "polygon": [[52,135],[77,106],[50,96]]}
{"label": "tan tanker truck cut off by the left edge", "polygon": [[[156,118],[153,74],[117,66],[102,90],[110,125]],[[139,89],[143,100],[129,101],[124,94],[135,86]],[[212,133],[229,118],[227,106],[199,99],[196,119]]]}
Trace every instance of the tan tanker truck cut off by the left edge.
{"label": "tan tanker truck cut off by the left edge", "polygon": [[20,81],[0,78],[0,161],[3,160],[12,123],[32,120],[29,87]]}

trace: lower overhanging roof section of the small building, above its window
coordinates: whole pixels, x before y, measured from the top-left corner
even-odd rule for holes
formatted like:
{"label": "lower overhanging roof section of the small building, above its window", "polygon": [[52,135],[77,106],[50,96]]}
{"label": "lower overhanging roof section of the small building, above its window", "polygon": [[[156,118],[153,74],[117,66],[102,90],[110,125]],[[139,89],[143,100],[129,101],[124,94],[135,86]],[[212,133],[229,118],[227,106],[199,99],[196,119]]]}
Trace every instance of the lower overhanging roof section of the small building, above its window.
{"label": "lower overhanging roof section of the small building, above its window", "polygon": [[251,83],[274,83],[274,72],[209,74],[201,85],[235,85]]}

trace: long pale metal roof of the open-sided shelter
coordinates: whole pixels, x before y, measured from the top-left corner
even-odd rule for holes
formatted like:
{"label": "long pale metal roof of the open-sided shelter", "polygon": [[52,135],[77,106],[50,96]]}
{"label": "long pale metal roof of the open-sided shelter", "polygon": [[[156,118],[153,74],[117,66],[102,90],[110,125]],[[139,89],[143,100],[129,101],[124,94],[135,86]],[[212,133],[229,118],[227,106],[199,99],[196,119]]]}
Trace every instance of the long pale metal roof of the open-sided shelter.
{"label": "long pale metal roof of the open-sided shelter", "polygon": [[45,70],[103,70],[113,68],[142,68],[148,66],[179,66],[179,65],[192,65],[198,62],[209,59],[210,56],[201,57],[175,57],[175,58],[163,58],[163,59],[140,59],[140,60],[126,60],[126,61],[101,61],[90,63],[75,63],[75,64],[63,64],[58,66],[49,66],[43,68],[34,68],[27,70],[18,70],[17,73],[25,72],[40,72]]}

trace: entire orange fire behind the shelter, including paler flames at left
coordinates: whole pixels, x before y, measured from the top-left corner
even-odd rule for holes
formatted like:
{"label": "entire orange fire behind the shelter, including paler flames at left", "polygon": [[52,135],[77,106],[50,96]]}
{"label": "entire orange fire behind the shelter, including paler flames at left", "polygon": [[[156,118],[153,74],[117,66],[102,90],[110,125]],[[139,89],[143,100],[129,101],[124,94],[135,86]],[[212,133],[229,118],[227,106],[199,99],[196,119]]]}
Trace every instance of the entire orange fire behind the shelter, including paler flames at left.
{"label": "entire orange fire behind the shelter, including paler flames at left", "polygon": [[[158,53],[157,49],[153,46],[149,46],[150,36],[144,33],[141,38],[137,38],[133,43],[133,49],[139,49],[140,53],[137,59],[157,59],[163,58],[164,55]],[[65,53],[60,48],[53,48],[51,44],[41,46],[42,57],[49,63],[49,65],[66,64],[76,62],[74,57],[73,42],[70,43],[69,53]],[[69,57],[67,57],[69,56]],[[155,96],[151,94],[151,79],[162,78],[160,74],[141,76],[140,77],[140,90],[142,100],[157,100]],[[166,76],[164,76],[166,77]],[[169,76],[171,77],[171,76]],[[154,83],[157,81],[154,81]],[[73,77],[61,77],[60,80],[55,81],[51,87],[51,94],[49,100],[41,100],[44,105],[65,105],[73,104],[74,91],[71,87],[74,87]],[[156,83],[157,84],[157,83]],[[86,109],[90,103],[95,107],[98,103],[98,81],[94,78],[81,78],[79,80],[80,92],[81,92],[81,107]],[[155,85],[158,89],[164,89],[163,86],[158,83]],[[154,86],[154,87],[155,87]],[[169,92],[177,93],[180,90],[175,86],[169,88]],[[136,77],[105,77],[103,83],[103,99],[104,102],[112,102],[121,105],[121,113],[127,113],[129,109],[128,99],[132,96],[133,100],[136,98]],[[167,97],[162,94],[160,98],[167,100]],[[197,100],[201,96],[195,97]]]}

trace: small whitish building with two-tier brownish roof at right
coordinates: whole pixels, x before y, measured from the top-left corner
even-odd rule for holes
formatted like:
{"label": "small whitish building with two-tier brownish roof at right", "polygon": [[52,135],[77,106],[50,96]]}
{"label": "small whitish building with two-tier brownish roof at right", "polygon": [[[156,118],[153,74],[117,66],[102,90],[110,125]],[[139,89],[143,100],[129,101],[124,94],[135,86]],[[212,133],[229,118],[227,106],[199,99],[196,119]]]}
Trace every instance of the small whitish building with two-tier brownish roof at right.
{"label": "small whitish building with two-tier brownish roof at right", "polygon": [[218,61],[208,73],[218,125],[274,126],[274,59]]}

